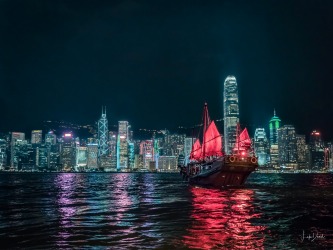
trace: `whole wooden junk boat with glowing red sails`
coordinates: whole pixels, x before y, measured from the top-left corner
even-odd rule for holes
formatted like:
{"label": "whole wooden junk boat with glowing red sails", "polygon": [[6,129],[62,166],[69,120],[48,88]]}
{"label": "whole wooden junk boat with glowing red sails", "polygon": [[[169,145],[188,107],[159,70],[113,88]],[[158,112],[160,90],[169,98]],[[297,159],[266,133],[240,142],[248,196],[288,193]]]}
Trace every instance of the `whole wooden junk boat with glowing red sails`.
{"label": "whole wooden junk boat with glowing red sails", "polygon": [[232,154],[222,151],[222,138],[215,122],[210,120],[207,103],[203,111],[202,143],[193,143],[190,162],[180,166],[180,173],[190,184],[221,187],[242,186],[247,177],[258,167],[258,158],[245,128],[237,125],[236,143]]}

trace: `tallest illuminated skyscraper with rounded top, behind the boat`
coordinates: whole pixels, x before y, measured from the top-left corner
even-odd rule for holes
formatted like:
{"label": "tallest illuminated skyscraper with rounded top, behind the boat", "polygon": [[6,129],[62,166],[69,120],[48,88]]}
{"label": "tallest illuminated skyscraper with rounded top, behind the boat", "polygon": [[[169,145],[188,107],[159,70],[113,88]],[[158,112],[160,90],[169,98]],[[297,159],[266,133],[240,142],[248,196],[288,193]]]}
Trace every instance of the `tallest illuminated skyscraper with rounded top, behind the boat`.
{"label": "tallest illuminated skyscraper with rounded top, behind the boat", "polygon": [[234,76],[227,76],[223,91],[224,106],[224,149],[231,154],[236,142],[237,123],[239,122],[238,88]]}

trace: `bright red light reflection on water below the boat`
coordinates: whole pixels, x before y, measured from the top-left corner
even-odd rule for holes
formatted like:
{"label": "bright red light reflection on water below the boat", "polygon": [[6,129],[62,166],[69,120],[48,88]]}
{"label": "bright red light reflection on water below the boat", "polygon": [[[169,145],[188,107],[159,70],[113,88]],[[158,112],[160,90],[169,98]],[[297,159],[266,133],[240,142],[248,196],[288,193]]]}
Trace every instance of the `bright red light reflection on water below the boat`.
{"label": "bright red light reflection on water below the boat", "polygon": [[192,188],[192,226],[183,243],[199,249],[264,249],[264,226],[250,219],[254,211],[252,190]]}

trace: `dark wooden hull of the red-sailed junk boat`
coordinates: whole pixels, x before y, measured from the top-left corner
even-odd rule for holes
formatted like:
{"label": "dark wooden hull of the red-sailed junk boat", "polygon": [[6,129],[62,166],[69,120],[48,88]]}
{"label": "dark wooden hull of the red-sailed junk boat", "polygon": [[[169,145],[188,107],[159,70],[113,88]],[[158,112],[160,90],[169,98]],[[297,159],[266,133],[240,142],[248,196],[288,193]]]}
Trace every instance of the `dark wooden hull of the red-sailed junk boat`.
{"label": "dark wooden hull of the red-sailed junk boat", "polygon": [[207,171],[201,170],[195,175],[189,175],[189,183],[215,188],[243,186],[247,177],[258,167],[257,161],[252,161],[249,158],[246,161],[236,159],[234,162],[230,162],[226,158],[222,158],[211,164],[203,164],[200,166],[201,169],[209,169]]}

